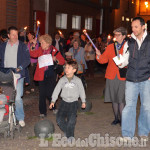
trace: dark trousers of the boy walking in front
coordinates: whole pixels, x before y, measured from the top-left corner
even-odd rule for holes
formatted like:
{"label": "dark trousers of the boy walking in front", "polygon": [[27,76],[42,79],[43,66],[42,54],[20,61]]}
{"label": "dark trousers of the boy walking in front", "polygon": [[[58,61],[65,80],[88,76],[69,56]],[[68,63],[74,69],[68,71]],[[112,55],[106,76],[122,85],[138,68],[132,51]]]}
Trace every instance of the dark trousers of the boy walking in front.
{"label": "dark trousers of the boy walking in front", "polygon": [[66,134],[67,138],[74,137],[77,109],[78,101],[68,103],[61,100],[56,116],[56,122],[60,129]]}

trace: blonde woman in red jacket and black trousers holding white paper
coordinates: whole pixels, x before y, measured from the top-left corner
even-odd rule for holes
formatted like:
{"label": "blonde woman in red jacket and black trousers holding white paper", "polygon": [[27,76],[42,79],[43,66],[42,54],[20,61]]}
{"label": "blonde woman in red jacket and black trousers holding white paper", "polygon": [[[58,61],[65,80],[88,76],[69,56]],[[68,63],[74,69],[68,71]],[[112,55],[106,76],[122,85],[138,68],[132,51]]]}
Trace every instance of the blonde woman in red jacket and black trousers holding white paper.
{"label": "blonde woman in red jacket and black trousers holding white paper", "polygon": [[[64,58],[60,52],[52,46],[52,38],[50,35],[45,34],[40,36],[39,42],[41,47],[35,50],[36,39],[32,45],[30,56],[38,58],[34,80],[39,81],[39,111],[40,117],[47,115],[46,98],[51,103],[52,92],[56,85],[56,73],[54,71],[54,62],[63,65]],[[53,110],[56,113],[55,107]]]}

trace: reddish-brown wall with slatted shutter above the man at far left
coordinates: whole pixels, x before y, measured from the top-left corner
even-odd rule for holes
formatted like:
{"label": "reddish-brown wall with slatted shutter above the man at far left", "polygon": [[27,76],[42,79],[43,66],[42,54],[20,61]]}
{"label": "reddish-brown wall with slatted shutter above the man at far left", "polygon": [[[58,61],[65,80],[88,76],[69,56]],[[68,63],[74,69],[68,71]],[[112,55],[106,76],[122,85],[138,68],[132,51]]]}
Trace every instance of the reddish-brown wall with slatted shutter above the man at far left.
{"label": "reddish-brown wall with slatted shutter above the man at far left", "polygon": [[0,29],[30,25],[30,0],[0,0]]}

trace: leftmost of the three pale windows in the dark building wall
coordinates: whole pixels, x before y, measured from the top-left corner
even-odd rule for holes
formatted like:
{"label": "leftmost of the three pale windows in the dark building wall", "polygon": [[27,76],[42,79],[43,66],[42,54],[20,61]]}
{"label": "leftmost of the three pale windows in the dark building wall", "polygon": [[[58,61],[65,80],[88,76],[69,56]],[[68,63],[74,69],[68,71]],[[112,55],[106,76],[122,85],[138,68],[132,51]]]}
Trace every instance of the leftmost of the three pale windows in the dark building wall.
{"label": "leftmost of the three pale windows in the dark building wall", "polygon": [[67,14],[56,14],[56,27],[60,29],[67,29]]}

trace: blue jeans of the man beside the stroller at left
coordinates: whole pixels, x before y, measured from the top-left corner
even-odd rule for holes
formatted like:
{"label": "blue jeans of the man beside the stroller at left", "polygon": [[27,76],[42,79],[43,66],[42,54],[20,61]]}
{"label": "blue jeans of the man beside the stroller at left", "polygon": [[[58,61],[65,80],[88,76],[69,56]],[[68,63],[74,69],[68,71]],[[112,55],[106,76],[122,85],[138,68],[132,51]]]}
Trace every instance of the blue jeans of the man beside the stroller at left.
{"label": "blue jeans of the man beside the stroller at left", "polygon": [[15,115],[18,121],[24,120],[24,110],[23,110],[23,85],[24,85],[24,78],[18,80],[17,88],[16,88],[16,99],[15,99]]}

